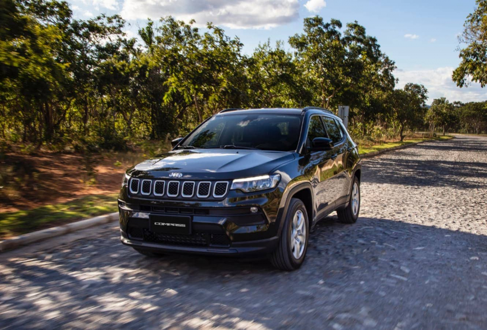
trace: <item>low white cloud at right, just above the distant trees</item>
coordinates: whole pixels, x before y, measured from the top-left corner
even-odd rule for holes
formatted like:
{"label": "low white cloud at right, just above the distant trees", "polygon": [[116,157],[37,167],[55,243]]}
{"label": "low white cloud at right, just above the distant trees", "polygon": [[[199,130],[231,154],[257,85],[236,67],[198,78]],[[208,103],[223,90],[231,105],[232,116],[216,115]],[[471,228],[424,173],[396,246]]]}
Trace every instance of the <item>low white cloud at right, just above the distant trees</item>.
{"label": "low white cloud at right, just above the distant trees", "polygon": [[402,88],[407,83],[422,84],[428,89],[429,103],[433,99],[447,98],[450,102],[474,102],[487,100],[487,89],[480,84],[473,83],[468,88],[460,88],[452,81],[452,67],[432,70],[396,70],[394,75],[399,79],[396,88]]}

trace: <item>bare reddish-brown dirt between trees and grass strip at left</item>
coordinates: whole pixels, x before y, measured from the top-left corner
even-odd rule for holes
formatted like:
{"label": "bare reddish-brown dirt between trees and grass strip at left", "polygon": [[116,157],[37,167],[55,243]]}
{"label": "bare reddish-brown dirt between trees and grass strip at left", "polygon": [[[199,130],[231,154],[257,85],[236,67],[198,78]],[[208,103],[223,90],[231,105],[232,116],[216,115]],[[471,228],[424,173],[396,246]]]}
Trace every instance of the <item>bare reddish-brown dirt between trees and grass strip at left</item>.
{"label": "bare reddish-brown dirt between trees and grass strip at left", "polygon": [[[87,195],[113,195],[125,169],[143,158],[132,152],[91,157],[59,152],[6,153],[0,159],[0,213]],[[121,165],[115,165],[117,161]]]}

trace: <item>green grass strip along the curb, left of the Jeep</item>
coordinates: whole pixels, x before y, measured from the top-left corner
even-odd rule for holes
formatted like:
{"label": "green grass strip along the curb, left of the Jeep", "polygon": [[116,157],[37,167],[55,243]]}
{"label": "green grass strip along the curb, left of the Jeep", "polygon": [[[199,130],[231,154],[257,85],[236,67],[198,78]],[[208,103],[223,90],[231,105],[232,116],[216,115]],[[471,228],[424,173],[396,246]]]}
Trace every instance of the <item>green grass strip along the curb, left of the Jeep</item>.
{"label": "green grass strip along the curb, left of the Jeep", "polygon": [[117,210],[116,195],[91,195],[66,203],[0,213],[0,238],[63,225]]}

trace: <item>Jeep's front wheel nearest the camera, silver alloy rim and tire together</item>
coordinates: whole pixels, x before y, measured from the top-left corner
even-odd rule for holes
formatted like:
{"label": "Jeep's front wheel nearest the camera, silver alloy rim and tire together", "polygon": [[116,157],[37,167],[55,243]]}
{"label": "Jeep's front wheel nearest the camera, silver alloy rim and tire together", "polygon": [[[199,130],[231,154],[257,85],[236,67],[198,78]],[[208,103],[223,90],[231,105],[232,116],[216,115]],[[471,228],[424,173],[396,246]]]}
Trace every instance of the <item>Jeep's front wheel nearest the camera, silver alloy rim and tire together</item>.
{"label": "Jeep's front wheel nearest the camera, silver alloy rim and tire together", "polygon": [[274,267],[282,270],[299,268],[305,261],[308,238],[309,223],[306,206],[301,200],[293,198],[289,203],[279,245],[271,255]]}

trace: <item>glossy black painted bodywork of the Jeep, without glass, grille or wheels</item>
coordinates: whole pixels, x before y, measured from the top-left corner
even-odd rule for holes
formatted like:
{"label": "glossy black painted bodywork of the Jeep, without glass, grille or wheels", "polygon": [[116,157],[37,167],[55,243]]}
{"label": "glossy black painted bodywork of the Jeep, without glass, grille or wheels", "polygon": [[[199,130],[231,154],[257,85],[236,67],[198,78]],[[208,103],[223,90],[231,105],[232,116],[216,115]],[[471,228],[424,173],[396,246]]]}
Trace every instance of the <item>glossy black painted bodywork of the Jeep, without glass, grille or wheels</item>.
{"label": "glossy black painted bodywork of the Jeep, without glass, grille or wheels", "polygon": [[[225,198],[206,200],[142,198],[133,196],[127,185],[124,185],[118,197],[121,241],[124,244],[141,249],[199,254],[266,254],[277,246],[282,229],[281,219],[287,212],[291,198],[300,198],[305,203],[310,227],[333,210],[347,205],[352,179],[354,176],[360,179],[361,174],[358,149],[349,134],[343,127],[345,134],[338,143],[328,141],[328,147],[311,150],[306,147],[308,123],[312,116],[327,116],[342,125],[338,117],[313,109],[238,110],[216,115],[232,115],[235,112],[301,115],[298,148],[294,152],[281,152],[244,149],[181,150],[175,147],[157,158],[133,166],[127,170],[127,174],[132,178],[172,180],[170,174],[180,172],[182,177],[178,180],[222,180],[231,183],[233,179],[278,173],[281,179],[277,187],[248,193],[229,190]],[[180,144],[184,140],[180,139],[176,143]],[[256,207],[258,211],[250,212],[251,207]],[[129,227],[135,227],[136,230],[148,228],[148,221],[140,218],[147,214],[189,215],[193,231],[200,233],[209,243],[207,246],[185,246],[130,238],[127,232]],[[228,239],[228,244],[213,244],[213,237],[217,235]]]}

